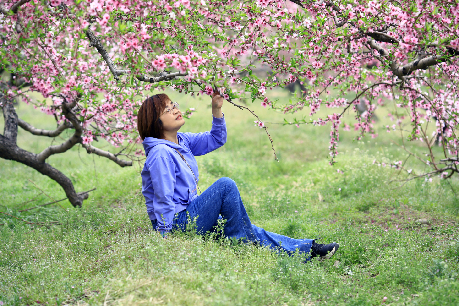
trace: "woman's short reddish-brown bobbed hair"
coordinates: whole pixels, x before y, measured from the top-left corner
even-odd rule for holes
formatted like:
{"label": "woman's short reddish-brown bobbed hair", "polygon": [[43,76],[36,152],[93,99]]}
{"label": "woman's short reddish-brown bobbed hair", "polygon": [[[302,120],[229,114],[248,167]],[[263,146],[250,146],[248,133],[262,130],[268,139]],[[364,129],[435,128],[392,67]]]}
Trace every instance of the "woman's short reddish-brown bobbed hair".
{"label": "woman's short reddish-brown bobbed hair", "polygon": [[162,122],[159,116],[169,104],[169,97],[166,94],[153,95],[147,98],[140,106],[137,113],[137,129],[142,140],[148,137],[164,139]]}

